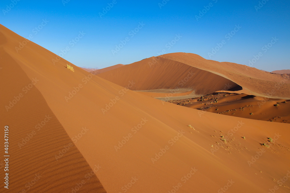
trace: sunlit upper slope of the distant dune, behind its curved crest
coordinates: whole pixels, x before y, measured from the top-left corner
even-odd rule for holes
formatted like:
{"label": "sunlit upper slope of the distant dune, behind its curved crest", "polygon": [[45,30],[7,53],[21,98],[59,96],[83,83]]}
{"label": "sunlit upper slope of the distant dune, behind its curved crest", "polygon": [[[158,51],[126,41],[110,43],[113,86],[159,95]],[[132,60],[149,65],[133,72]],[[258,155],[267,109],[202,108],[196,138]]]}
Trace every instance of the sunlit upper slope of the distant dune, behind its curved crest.
{"label": "sunlit upper slope of the distant dune, behind its curved crest", "polygon": [[290,78],[287,75],[271,74],[246,65],[206,60],[191,53],[172,53],[160,57],[221,75],[247,89],[249,93],[244,92],[247,94],[290,99]]}

